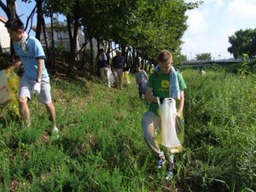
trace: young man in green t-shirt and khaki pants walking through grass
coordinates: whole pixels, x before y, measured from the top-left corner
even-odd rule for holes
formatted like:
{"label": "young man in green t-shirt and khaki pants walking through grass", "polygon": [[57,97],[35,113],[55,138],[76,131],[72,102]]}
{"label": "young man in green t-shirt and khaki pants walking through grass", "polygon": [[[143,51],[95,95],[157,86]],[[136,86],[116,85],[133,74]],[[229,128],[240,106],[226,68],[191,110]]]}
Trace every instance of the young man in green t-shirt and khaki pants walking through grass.
{"label": "young man in green t-shirt and khaki pants walking through grass", "polygon": [[[156,160],[157,168],[161,168],[166,163],[166,155],[160,150],[160,146],[156,141],[156,131],[161,127],[161,118],[159,114],[159,103],[167,97],[172,97],[177,103],[177,116],[182,115],[184,105],[184,83],[183,76],[177,73],[172,67],[172,53],[168,50],[162,50],[158,55],[158,66],[155,67],[154,73],[150,73],[146,100],[148,100],[148,112],[143,113],[142,127],[144,141],[151,150]],[[166,179],[170,179],[173,174],[173,155],[170,154],[168,148],[165,148],[168,157],[168,165],[166,169]]]}

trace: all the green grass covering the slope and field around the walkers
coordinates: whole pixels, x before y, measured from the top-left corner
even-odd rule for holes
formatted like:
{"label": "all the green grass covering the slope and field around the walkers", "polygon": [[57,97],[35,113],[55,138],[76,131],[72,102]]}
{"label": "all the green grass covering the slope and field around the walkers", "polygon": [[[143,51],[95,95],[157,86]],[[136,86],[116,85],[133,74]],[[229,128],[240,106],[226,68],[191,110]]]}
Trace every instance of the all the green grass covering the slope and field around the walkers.
{"label": "all the green grass covering the slope and field around the walkers", "polygon": [[52,79],[58,140],[37,98],[29,129],[0,109],[0,191],[256,190],[255,82],[222,71],[183,77],[185,148],[171,182],[143,141],[147,108],[134,76],[124,90],[97,79]]}

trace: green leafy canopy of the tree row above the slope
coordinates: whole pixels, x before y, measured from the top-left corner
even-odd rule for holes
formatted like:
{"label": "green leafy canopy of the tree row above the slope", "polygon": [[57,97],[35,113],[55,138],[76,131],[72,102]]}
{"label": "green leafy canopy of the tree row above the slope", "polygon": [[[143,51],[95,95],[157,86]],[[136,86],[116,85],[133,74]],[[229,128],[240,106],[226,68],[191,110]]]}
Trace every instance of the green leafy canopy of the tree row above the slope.
{"label": "green leafy canopy of the tree row above the slope", "polygon": [[[7,5],[10,2],[7,1]],[[68,25],[74,26],[73,32],[69,32],[71,48],[75,47],[78,27],[82,26],[85,38],[96,38],[101,44],[114,42],[122,49],[132,47],[137,55],[147,59],[155,58],[160,49],[170,49],[180,55],[181,38],[187,29],[185,12],[201,4],[183,0],[41,0],[35,3],[42,17],[61,14],[67,18]],[[0,7],[6,12],[7,5],[0,1]],[[38,20],[38,25],[42,25],[41,21]],[[71,49],[71,58],[73,54]]]}

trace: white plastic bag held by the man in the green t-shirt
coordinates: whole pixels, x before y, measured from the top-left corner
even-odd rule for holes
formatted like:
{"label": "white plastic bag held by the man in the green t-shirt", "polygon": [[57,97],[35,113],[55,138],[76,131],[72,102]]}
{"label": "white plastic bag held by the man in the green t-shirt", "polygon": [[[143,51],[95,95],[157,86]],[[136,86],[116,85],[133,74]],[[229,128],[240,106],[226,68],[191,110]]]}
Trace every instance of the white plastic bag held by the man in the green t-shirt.
{"label": "white plastic bag held by the man in the green t-shirt", "polygon": [[165,98],[161,104],[159,97],[157,97],[157,100],[159,103],[161,118],[161,144],[166,146],[166,148],[169,148],[172,153],[179,153],[178,148],[181,148],[182,145],[177,138],[176,132],[176,101],[175,99],[168,97]]}

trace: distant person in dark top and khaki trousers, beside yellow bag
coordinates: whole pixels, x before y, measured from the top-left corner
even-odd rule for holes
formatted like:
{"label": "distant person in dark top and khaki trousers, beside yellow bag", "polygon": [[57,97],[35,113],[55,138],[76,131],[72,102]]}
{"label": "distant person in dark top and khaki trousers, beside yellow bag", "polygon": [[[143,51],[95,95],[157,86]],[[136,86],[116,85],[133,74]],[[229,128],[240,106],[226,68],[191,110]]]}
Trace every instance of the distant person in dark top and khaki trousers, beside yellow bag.
{"label": "distant person in dark top and khaki trousers, beside yellow bag", "polygon": [[113,69],[113,76],[115,83],[119,86],[120,90],[123,90],[123,68],[125,58],[122,56],[120,50],[116,50],[116,55],[112,59],[111,67]]}

